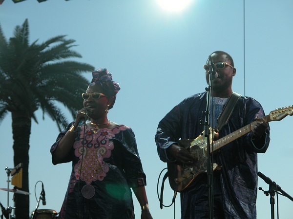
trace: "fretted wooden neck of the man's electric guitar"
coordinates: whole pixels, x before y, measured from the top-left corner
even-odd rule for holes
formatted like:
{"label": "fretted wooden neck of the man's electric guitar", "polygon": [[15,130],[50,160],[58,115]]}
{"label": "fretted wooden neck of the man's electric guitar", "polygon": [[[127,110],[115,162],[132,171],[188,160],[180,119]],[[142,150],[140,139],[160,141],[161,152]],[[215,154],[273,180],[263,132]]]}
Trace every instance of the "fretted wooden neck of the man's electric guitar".
{"label": "fretted wooden neck of the man's electric guitar", "polygon": [[[268,123],[271,121],[270,119],[270,115],[267,115],[263,118],[261,118],[260,120],[261,122],[265,122],[265,123]],[[229,135],[226,135],[225,137],[213,142],[213,145],[211,145],[210,147],[210,151],[216,151],[218,149],[220,149],[222,146],[225,146],[227,144],[229,144],[230,142],[236,140],[237,138],[240,138],[241,136],[249,133],[252,131],[253,129],[253,126],[259,121],[254,121],[252,122],[251,124],[245,126],[245,127],[242,127],[232,133],[230,133]]]}

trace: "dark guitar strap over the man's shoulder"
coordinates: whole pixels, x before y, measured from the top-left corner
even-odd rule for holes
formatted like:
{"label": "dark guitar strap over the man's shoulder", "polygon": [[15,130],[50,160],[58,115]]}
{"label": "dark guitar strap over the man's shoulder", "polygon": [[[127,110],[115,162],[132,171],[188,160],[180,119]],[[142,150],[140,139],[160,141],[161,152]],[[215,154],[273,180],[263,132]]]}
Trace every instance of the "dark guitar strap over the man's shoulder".
{"label": "dark guitar strap over the man's shoulder", "polygon": [[221,128],[228,123],[230,116],[232,114],[232,111],[234,110],[234,107],[236,103],[238,102],[238,100],[240,99],[240,97],[241,95],[239,93],[236,93],[234,91],[232,92],[224,109],[222,110],[222,112],[220,113],[217,119],[218,124],[216,126],[216,129],[221,130]]}

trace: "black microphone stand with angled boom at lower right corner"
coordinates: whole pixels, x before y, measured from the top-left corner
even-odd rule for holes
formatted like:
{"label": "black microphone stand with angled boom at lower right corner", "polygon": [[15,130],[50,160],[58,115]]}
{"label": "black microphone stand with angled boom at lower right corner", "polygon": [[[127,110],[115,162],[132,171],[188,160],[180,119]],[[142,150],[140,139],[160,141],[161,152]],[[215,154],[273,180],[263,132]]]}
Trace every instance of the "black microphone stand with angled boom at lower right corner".
{"label": "black microphone stand with angled boom at lower right corner", "polygon": [[269,196],[270,194],[270,203],[271,203],[271,218],[274,219],[274,195],[276,192],[281,192],[283,196],[286,196],[288,199],[293,201],[293,198],[287,194],[279,185],[277,185],[275,182],[272,182],[272,180],[269,177],[266,177],[261,172],[257,172],[257,175],[262,178],[266,183],[269,184],[269,190],[264,191],[261,187],[259,187],[259,190],[262,190],[266,196]]}

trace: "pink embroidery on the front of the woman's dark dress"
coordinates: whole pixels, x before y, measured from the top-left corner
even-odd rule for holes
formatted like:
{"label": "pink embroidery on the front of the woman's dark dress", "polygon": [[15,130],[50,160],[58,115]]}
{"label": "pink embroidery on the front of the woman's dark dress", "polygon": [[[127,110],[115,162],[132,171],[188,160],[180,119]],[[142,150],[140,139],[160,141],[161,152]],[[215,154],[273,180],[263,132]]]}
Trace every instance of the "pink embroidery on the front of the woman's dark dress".
{"label": "pink embroidery on the front of the woman's dark dress", "polygon": [[126,126],[113,129],[102,128],[96,134],[91,131],[91,128],[86,128],[85,138],[84,129],[81,128],[80,140],[74,142],[73,145],[75,148],[74,154],[80,159],[74,166],[75,178],[78,180],[80,177],[87,184],[96,180],[102,181],[109,171],[109,166],[105,164],[104,158],[110,157],[111,150],[114,149],[113,142],[109,139],[127,128]]}

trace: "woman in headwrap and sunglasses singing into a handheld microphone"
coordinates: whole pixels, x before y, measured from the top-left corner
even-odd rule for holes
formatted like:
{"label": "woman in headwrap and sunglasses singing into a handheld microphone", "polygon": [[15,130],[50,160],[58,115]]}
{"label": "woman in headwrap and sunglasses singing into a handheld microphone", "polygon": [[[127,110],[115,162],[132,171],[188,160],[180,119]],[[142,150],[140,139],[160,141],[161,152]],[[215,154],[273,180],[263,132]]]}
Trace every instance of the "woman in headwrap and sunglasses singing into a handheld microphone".
{"label": "woman in headwrap and sunglasses singing into a handheld microphone", "polygon": [[130,187],[142,206],[141,218],[152,219],[134,133],[107,118],[119,84],[106,69],[92,75],[82,94],[84,108],[50,150],[54,165],[73,163],[58,219],[134,219]]}

